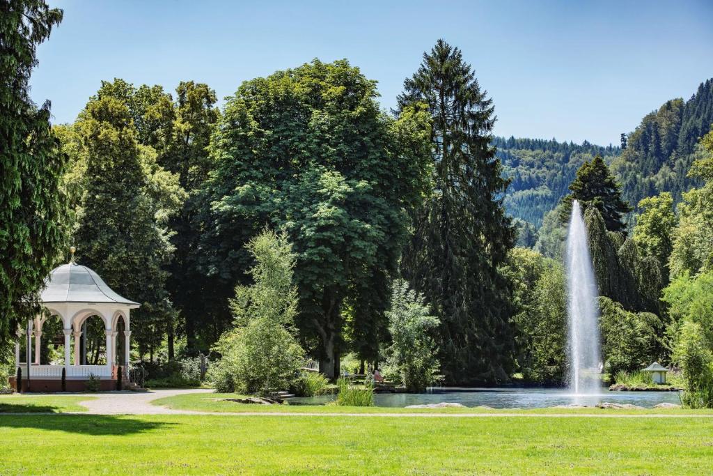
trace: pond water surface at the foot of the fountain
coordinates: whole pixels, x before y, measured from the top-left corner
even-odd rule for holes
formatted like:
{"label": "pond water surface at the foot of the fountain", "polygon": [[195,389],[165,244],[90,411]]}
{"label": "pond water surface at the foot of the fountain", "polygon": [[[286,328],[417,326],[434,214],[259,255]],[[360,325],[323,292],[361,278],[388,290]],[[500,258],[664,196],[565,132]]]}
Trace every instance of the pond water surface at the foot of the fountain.
{"label": "pond water surface at the foot of the fountain", "polygon": [[[334,395],[294,397],[290,403],[324,405],[334,400]],[[428,393],[377,393],[377,407],[406,407],[439,402],[457,402],[466,407],[487,405],[493,408],[542,408],[556,405],[596,405],[597,403],[630,403],[640,407],[653,407],[658,403],[680,405],[677,392],[610,392],[602,389],[597,395],[573,395],[569,390],[543,388],[434,388]]]}

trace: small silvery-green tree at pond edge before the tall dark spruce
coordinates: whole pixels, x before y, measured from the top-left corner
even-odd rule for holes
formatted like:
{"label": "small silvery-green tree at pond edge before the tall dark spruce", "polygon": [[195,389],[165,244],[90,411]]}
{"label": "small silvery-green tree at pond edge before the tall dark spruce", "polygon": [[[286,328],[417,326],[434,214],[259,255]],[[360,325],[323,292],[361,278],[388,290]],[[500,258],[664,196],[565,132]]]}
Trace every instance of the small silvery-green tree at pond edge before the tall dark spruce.
{"label": "small silvery-green tree at pond edge before the tall dark spruce", "polygon": [[439,378],[438,348],[431,335],[438,318],[429,314],[424,297],[410,290],[404,280],[394,281],[386,318],[391,334],[386,373],[396,375],[407,390],[424,392]]}

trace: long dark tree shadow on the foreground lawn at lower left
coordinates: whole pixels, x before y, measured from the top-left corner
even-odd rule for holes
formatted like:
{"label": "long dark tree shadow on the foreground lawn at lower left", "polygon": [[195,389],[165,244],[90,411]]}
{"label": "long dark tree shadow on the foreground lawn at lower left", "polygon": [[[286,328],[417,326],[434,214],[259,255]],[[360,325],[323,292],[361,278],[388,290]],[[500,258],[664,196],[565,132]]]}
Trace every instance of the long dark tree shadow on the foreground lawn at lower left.
{"label": "long dark tree shadow on the foreground lawn at lower left", "polygon": [[[18,407],[22,405],[16,405]],[[50,408],[51,407],[43,407]],[[39,410],[31,410],[33,412]],[[50,410],[51,411],[51,410]],[[36,430],[81,433],[82,435],[133,435],[152,430],[169,429],[175,423],[151,422],[118,415],[2,415],[0,432],[4,428],[34,428]]]}

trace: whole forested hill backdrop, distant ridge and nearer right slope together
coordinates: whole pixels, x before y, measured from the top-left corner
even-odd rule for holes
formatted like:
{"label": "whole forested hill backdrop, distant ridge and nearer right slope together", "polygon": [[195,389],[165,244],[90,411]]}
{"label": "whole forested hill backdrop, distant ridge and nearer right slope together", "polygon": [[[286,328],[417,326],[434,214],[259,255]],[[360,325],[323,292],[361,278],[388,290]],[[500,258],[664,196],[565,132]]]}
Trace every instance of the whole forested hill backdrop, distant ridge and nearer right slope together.
{"label": "whole forested hill backdrop, distant ridge and nearer right slope together", "polygon": [[[577,169],[597,154],[610,164],[624,198],[636,206],[642,198],[671,192],[674,201],[696,183],[688,169],[701,152],[698,141],[713,123],[713,79],[701,83],[688,101],[667,101],[645,116],[622,147],[595,146],[528,138],[493,139],[503,173],[512,179],[505,197],[508,213],[542,225],[545,213],[569,193]],[[519,226],[523,226],[519,223]]]}

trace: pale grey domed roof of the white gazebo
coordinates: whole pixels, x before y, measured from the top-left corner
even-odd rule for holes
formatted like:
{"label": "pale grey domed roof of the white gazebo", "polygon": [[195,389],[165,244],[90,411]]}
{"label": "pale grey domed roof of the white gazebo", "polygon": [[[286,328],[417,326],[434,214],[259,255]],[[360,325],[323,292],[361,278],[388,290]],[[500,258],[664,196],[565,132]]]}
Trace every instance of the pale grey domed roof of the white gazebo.
{"label": "pale grey domed roof of the white gazebo", "polygon": [[122,298],[86,266],[68,263],[54,268],[45,280],[40,300],[48,303],[113,303],[138,308],[133,300]]}

